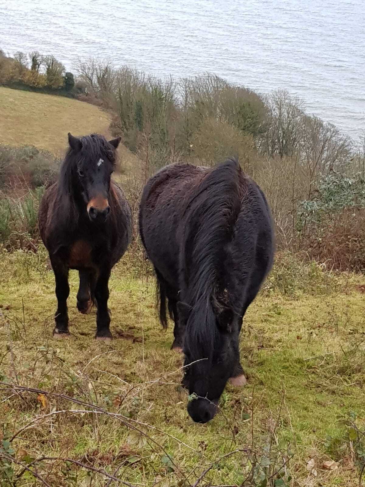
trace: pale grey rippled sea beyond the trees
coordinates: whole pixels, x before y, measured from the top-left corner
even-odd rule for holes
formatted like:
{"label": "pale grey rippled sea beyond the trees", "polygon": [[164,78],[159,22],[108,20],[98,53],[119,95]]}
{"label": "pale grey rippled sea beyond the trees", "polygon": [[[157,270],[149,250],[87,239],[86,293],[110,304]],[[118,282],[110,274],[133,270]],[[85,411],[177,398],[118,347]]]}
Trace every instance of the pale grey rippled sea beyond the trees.
{"label": "pale grey rippled sea beyond the trees", "polygon": [[155,75],[206,71],[285,88],[357,137],[365,128],[364,0],[0,0],[0,47],[110,58]]}

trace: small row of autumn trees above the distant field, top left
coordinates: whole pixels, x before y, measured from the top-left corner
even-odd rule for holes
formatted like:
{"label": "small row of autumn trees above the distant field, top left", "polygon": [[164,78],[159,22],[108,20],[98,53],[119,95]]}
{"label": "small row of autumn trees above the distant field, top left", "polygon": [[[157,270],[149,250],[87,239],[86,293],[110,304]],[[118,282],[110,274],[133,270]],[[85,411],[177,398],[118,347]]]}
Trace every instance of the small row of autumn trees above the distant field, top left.
{"label": "small row of autumn trees above the distant field, top left", "polygon": [[66,72],[55,56],[38,51],[18,51],[11,57],[0,49],[0,85],[68,96],[77,93],[73,73]]}

